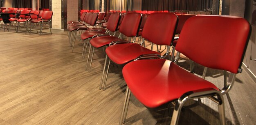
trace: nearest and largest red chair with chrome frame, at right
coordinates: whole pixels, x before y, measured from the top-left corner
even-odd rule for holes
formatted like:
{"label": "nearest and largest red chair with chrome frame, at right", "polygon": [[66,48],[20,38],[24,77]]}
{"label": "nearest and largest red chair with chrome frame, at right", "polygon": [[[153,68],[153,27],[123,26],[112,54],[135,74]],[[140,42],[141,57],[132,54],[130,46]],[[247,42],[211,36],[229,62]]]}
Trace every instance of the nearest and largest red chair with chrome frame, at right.
{"label": "nearest and largest red chair with chrome frame, at right", "polygon": [[[205,32],[206,30],[208,32]],[[189,18],[184,24],[176,49],[200,65],[230,71],[227,84],[219,89],[211,82],[189,73],[170,60],[137,58],[137,61],[127,64],[123,69],[127,88],[120,123],[125,122],[132,93],[150,109],[168,107],[169,103],[175,102],[171,125],[178,124],[181,108],[187,100],[208,97],[218,103],[220,124],[225,125],[223,95],[228,93],[234,84],[236,73],[241,71],[249,34],[249,23],[240,17]]]}

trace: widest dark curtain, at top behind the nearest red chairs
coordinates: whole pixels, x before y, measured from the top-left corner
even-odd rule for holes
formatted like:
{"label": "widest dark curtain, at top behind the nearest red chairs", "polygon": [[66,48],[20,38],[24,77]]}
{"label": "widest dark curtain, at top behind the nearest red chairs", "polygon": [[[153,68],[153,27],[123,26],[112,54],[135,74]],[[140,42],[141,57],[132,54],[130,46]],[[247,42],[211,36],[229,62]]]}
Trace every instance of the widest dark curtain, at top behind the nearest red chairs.
{"label": "widest dark curtain, at top behind the nearest red chairs", "polygon": [[212,8],[212,0],[142,0],[144,11],[204,11]]}

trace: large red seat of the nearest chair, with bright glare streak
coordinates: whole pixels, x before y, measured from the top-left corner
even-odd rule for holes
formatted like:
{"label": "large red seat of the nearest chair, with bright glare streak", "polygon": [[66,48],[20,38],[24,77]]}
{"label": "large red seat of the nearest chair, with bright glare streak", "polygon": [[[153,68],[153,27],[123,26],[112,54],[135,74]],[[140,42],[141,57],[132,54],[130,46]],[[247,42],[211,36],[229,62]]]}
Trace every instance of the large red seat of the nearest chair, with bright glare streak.
{"label": "large red seat of the nearest chair, with bright glare streak", "polygon": [[188,91],[219,90],[211,82],[165,59],[133,61],[124,66],[123,75],[132,94],[148,108],[174,101]]}

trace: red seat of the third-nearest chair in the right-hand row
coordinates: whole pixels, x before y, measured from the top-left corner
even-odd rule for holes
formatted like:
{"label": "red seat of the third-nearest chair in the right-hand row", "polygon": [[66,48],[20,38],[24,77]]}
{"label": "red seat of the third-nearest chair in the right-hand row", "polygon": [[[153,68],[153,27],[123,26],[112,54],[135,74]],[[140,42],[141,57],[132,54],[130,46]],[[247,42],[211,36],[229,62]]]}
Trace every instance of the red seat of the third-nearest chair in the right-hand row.
{"label": "red seat of the third-nearest chair in the right-hand row", "polygon": [[103,47],[104,45],[108,45],[112,41],[123,41],[123,40],[113,36],[104,36],[104,37],[93,38],[90,40],[90,43],[94,48],[99,48],[99,47]]}

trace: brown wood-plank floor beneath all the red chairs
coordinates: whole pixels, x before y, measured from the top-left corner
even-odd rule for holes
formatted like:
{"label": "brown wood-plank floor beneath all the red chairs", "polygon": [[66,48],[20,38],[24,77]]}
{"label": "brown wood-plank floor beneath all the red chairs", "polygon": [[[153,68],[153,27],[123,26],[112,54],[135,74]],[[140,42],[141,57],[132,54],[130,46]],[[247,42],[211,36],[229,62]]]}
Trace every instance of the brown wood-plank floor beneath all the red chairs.
{"label": "brown wood-plank floor beneath all the red chairs", "polygon": [[[25,34],[0,28],[0,124],[117,125],[124,102],[126,83],[122,66],[111,65],[105,91],[99,90],[104,55],[96,50],[91,72],[85,71],[82,43],[69,47],[67,32],[43,30]],[[79,38],[79,37],[78,37]],[[86,56],[87,57],[87,54]],[[189,69],[186,59],[178,65]],[[203,67],[195,65],[196,74]],[[209,69],[207,80],[221,88],[222,71]],[[228,125],[256,123],[256,84],[243,71],[229,95],[225,95]],[[189,101],[180,117],[182,125],[218,124],[218,106],[209,99]],[[131,97],[126,125],[165,125],[167,110],[150,111]]]}

